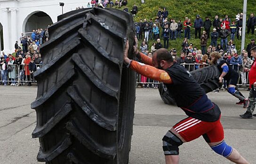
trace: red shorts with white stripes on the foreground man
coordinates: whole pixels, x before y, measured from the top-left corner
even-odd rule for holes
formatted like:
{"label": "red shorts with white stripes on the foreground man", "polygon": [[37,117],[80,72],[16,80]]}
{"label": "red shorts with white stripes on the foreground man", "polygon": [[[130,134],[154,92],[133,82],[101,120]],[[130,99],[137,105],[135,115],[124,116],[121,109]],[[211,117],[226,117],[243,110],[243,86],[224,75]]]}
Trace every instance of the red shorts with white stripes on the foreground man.
{"label": "red shorts with white stripes on the foreground man", "polygon": [[208,143],[220,142],[224,139],[224,130],[220,118],[215,122],[206,122],[188,117],[178,122],[173,128],[186,142],[197,139],[201,135]]}

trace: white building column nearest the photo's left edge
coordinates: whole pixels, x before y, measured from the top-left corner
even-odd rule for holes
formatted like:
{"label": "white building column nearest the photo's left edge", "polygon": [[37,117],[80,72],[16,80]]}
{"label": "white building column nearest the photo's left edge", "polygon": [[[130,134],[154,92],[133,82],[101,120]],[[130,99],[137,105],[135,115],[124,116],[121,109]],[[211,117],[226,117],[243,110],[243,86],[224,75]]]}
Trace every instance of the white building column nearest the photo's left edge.
{"label": "white building column nearest the photo's left edge", "polygon": [[8,9],[1,8],[0,9],[1,16],[3,18],[3,22],[1,22],[3,26],[3,43],[4,43],[4,51],[6,54],[11,51],[10,47],[10,35],[9,35],[9,24],[8,24]]}

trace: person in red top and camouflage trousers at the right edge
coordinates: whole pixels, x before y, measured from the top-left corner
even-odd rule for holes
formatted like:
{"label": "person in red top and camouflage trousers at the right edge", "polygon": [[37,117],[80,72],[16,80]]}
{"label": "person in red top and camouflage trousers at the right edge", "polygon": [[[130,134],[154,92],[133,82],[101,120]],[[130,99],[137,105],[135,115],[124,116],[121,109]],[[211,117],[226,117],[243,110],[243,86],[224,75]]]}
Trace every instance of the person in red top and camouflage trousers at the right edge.
{"label": "person in red top and camouflage trousers at the right edge", "polygon": [[[251,49],[251,55],[253,58],[256,58],[256,47]],[[247,71],[249,71],[248,79],[249,87],[251,89],[248,97],[249,105],[247,111],[244,114],[241,114],[240,117],[243,119],[252,119],[253,116],[256,117],[256,114],[252,114],[256,105],[256,60],[253,61],[251,68],[247,69]]]}

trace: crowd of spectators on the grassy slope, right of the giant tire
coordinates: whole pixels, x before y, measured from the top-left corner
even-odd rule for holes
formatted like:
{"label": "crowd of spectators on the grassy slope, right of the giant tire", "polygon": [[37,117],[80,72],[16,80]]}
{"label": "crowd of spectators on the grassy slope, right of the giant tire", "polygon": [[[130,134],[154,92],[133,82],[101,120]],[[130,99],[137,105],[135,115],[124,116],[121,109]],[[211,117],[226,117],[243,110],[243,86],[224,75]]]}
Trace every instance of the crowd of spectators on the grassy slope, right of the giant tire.
{"label": "crowd of spectators on the grassy slope, right of the giant tire", "polygon": [[[142,40],[140,46],[141,52],[146,55],[152,55],[157,49],[168,49],[169,42],[176,40],[178,37],[182,38],[184,33],[180,57],[177,56],[176,48],[170,50],[176,62],[184,64],[184,67],[192,71],[210,64],[210,53],[216,51],[240,73],[241,83],[248,83],[246,80],[248,67],[253,61],[250,55],[250,49],[256,45],[255,40],[251,39],[251,43],[240,54],[236,49],[234,40],[241,39],[242,13],[236,15],[233,22],[228,15],[225,15],[224,19],[216,15],[213,20],[209,17],[205,17],[205,20],[203,20],[200,15],[196,15],[193,22],[188,17],[185,17],[184,21],[176,21],[173,18],[168,19],[168,16],[169,12],[167,8],[163,7],[159,8],[154,22],[153,19],[149,21],[147,19],[140,19],[139,22],[135,22],[136,36],[139,40]],[[247,20],[248,34],[250,32],[252,35],[254,34],[255,25],[256,17],[251,13]],[[199,39],[200,47],[193,46],[193,43],[189,41],[191,39],[192,28],[194,29],[194,38]],[[210,41],[209,45],[208,40]],[[220,41],[219,43],[218,40]],[[152,45],[150,45],[151,49],[148,45],[149,41],[153,41]],[[163,41],[163,44],[161,41]]]}

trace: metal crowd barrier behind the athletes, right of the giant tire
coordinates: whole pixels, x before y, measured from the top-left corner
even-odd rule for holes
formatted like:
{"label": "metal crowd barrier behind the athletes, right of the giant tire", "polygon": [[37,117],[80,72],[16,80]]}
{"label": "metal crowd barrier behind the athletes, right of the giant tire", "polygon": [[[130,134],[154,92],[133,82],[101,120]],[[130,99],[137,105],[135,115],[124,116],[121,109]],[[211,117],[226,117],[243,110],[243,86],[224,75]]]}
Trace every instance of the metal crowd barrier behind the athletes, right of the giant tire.
{"label": "metal crowd barrier behind the athletes, right of the giant tire", "polygon": [[[194,71],[196,69],[202,68],[202,67],[207,67],[208,64],[181,64],[183,67],[185,67],[189,72]],[[234,69],[235,67],[237,67],[236,65],[232,65],[232,68]],[[242,66],[240,66],[242,67]],[[237,71],[239,73],[239,80],[237,85],[238,86],[248,86],[249,82],[248,82],[248,72],[244,72],[244,70],[242,69],[242,71],[239,71],[239,67],[235,68],[235,71]],[[243,76],[243,77],[242,77]],[[244,78],[244,81],[242,80],[242,78]],[[150,87],[150,88],[157,88],[159,82],[149,79],[143,75],[137,74],[137,86],[141,86],[141,87]]]}

